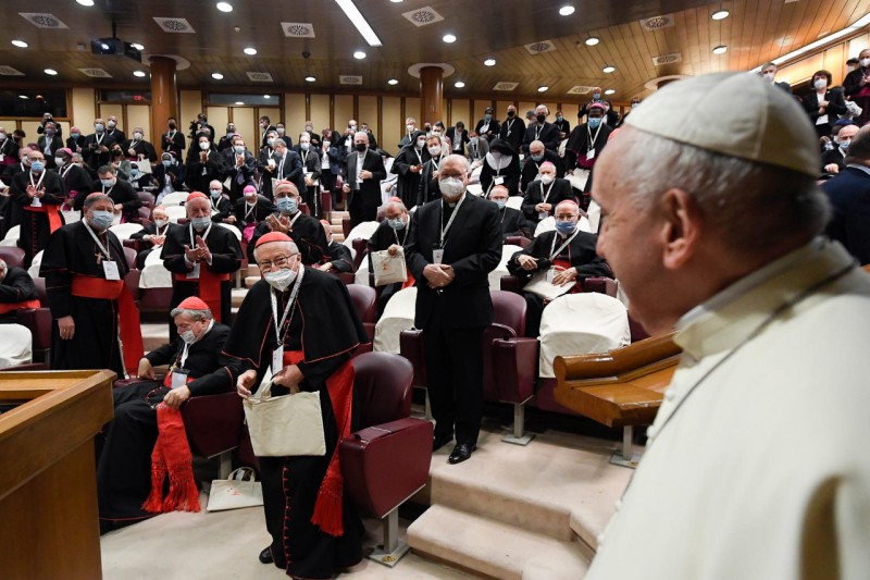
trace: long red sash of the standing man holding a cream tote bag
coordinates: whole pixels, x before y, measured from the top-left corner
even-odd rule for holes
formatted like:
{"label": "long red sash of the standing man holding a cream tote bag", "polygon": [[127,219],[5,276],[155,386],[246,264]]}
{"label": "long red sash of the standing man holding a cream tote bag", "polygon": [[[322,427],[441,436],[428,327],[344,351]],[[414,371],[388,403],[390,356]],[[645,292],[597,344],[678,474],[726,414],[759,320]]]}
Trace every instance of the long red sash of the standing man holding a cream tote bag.
{"label": "long red sash of the standing man holding a cream tote bag", "polygon": [[[301,350],[284,353],[285,366],[297,365],[303,359],[304,355]],[[318,499],[314,503],[314,515],[311,517],[311,523],[320,527],[321,530],[330,535],[339,536],[344,535],[345,528],[341,510],[344,479],[341,477],[338,444],[350,435],[350,411],[353,400],[353,365],[350,361],[345,362],[332,377],[326,379],[326,390],[333,404],[335,423],[338,428],[338,441],[335,449],[333,449],[330,466],[326,468],[326,476],[320,484],[320,491],[318,491]]]}

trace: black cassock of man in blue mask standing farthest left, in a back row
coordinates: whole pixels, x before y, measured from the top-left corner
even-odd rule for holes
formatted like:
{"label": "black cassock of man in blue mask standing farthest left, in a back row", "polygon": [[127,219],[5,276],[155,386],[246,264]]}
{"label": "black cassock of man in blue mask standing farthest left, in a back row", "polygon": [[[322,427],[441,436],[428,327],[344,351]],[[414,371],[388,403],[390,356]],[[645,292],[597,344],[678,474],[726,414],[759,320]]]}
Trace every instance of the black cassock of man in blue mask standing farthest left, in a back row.
{"label": "black cassock of man in blue mask standing farthest left, in a back row", "polygon": [[[46,195],[39,199],[42,206],[54,206],[60,211],[63,203],[63,182],[60,175],[50,170],[42,170],[45,177],[39,183],[40,175],[25,171],[15,175],[12,180],[11,195],[12,202],[17,206],[17,213],[21,215],[21,234],[18,235],[18,247],[24,250],[24,263],[28,266],[40,250],[48,244],[51,234],[48,214],[41,211],[32,211],[27,208],[33,207],[33,198],[27,196],[27,187],[33,184],[38,185],[37,189],[45,188]],[[63,215],[59,215],[63,223]]]}

